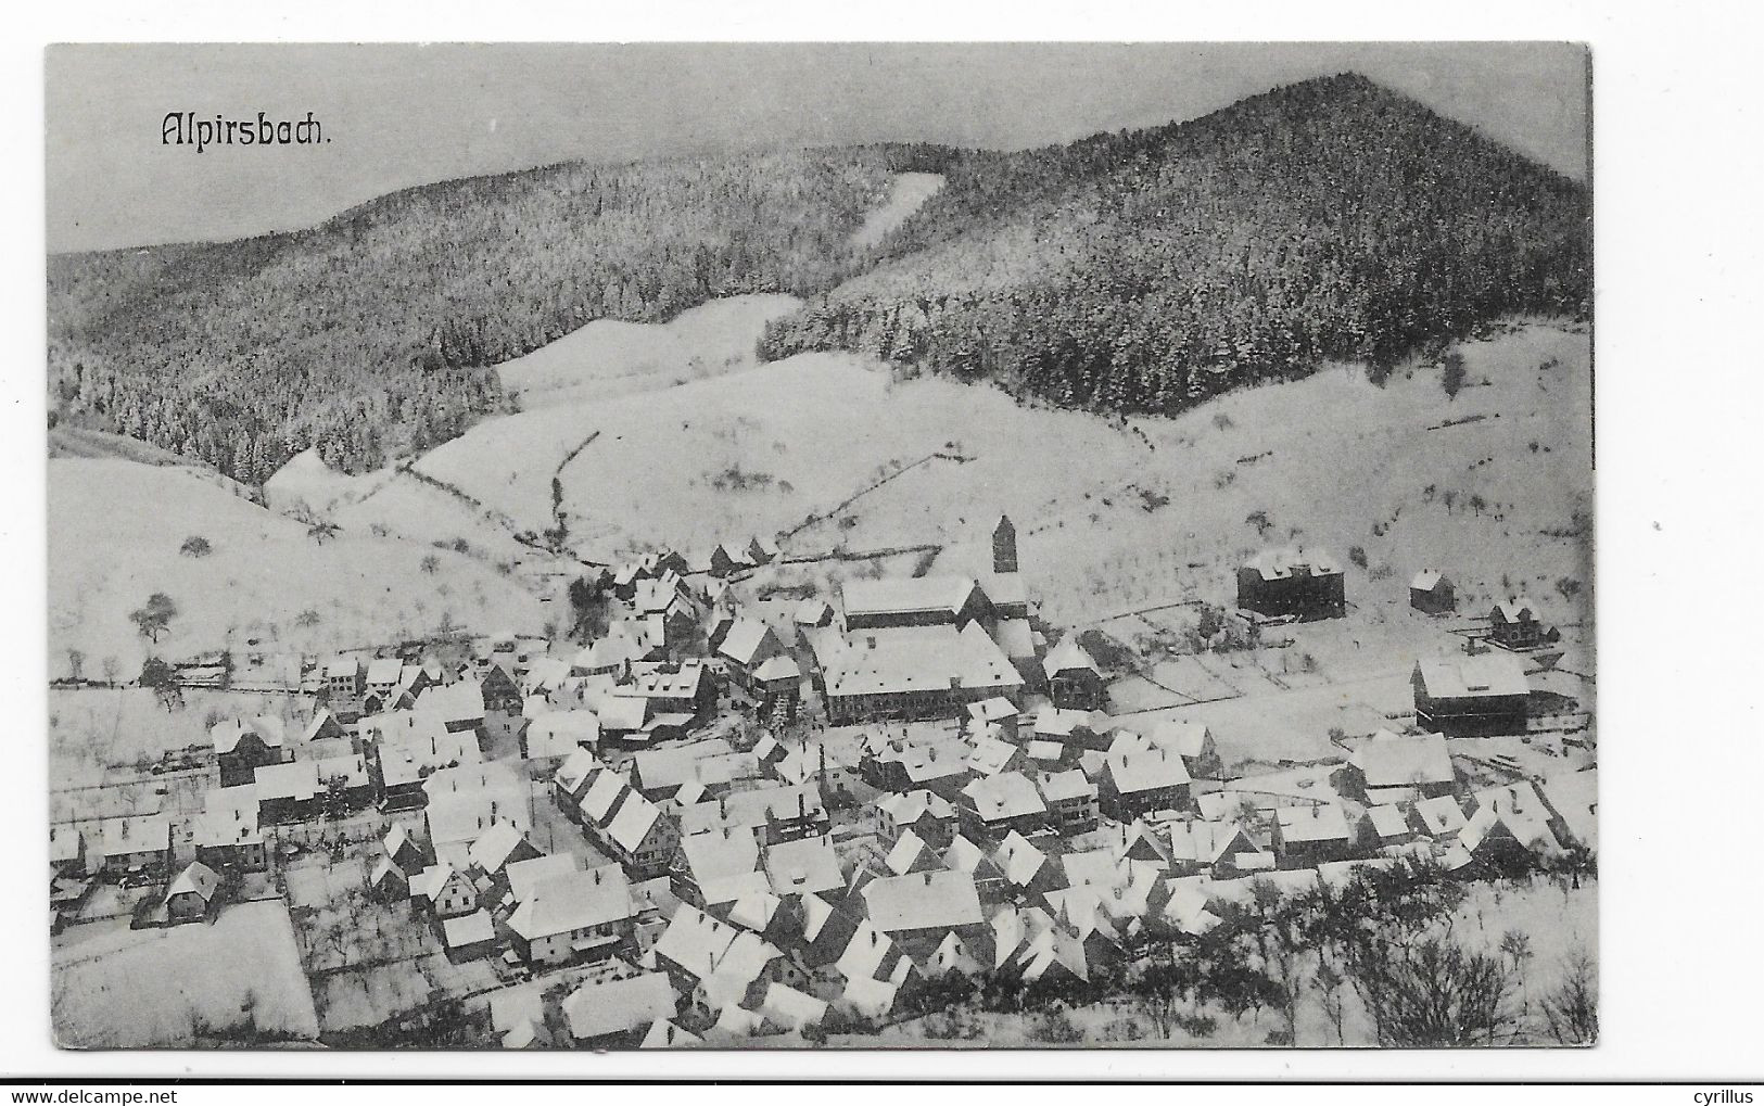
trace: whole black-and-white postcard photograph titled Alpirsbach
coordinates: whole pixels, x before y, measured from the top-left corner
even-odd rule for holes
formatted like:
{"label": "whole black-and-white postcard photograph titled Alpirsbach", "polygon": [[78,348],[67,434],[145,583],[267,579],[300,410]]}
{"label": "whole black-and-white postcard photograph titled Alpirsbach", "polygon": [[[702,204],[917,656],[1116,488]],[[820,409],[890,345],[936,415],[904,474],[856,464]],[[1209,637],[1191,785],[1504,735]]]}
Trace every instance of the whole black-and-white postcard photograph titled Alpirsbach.
{"label": "whole black-and-white postcard photograph titled Alpirsbach", "polygon": [[42,65],[55,1048],[1598,1042],[1586,44]]}

